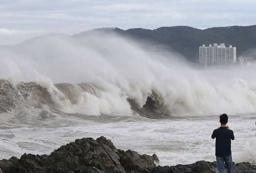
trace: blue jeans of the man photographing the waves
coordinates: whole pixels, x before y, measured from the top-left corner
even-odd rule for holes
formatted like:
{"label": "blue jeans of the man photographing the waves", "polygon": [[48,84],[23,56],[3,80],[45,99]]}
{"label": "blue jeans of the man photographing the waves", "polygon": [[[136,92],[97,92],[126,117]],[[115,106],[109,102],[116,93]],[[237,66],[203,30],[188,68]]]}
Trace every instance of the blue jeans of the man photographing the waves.
{"label": "blue jeans of the man photographing the waves", "polygon": [[224,162],[226,164],[228,173],[234,173],[231,154],[230,154],[230,156],[227,156],[227,157],[216,156],[216,160],[217,160],[217,166],[218,166],[219,173],[225,173]]}

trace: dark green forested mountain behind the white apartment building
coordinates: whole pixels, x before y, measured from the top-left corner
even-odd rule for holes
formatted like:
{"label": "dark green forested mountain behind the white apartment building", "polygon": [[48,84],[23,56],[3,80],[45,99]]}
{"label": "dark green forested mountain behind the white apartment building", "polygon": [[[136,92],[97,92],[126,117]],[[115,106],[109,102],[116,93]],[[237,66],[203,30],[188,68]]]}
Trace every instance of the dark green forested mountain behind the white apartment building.
{"label": "dark green forested mountain behind the white apartment building", "polygon": [[[188,26],[161,27],[154,30],[133,28],[122,30],[119,28],[100,28],[102,32],[115,32],[122,36],[129,36],[138,41],[156,45],[162,44],[177,51],[187,60],[195,62],[198,57],[199,46],[213,43],[225,43],[237,48],[237,57],[250,55],[256,58],[256,52],[249,49],[256,48],[256,25],[228,26],[208,29],[196,29]],[[90,31],[87,31],[90,32]],[[80,34],[86,34],[82,32]],[[79,34],[79,35],[80,35]]]}

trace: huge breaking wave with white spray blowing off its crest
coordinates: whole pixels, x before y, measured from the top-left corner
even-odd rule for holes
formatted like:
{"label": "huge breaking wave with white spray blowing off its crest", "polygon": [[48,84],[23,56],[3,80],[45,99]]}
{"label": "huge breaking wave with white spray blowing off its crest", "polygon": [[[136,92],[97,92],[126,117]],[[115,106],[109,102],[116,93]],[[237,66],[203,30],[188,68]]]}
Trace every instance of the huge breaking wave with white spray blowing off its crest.
{"label": "huge breaking wave with white spray blowing off its crest", "polygon": [[40,36],[0,54],[0,113],[156,118],[256,110],[254,71],[191,70],[164,48],[113,34]]}

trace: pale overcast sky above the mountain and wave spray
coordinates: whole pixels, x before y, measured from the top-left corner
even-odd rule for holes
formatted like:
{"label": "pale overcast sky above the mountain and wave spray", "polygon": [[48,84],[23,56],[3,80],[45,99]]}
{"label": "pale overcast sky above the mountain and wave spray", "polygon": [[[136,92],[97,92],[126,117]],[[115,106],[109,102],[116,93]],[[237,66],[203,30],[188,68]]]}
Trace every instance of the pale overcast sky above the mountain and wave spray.
{"label": "pale overcast sky above the mountain and wave spray", "polygon": [[0,0],[0,45],[94,28],[255,25],[256,0]]}

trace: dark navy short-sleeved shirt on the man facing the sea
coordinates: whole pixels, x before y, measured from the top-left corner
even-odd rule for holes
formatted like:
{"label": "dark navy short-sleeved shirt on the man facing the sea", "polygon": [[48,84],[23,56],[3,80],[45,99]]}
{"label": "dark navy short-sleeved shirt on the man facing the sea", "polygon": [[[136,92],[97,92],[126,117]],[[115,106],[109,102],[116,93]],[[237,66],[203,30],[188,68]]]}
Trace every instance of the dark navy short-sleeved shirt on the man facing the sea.
{"label": "dark navy short-sleeved shirt on the man facing the sea", "polygon": [[226,157],[231,154],[231,140],[234,140],[234,133],[227,127],[215,129],[212,133],[212,139],[216,138],[215,156]]}

